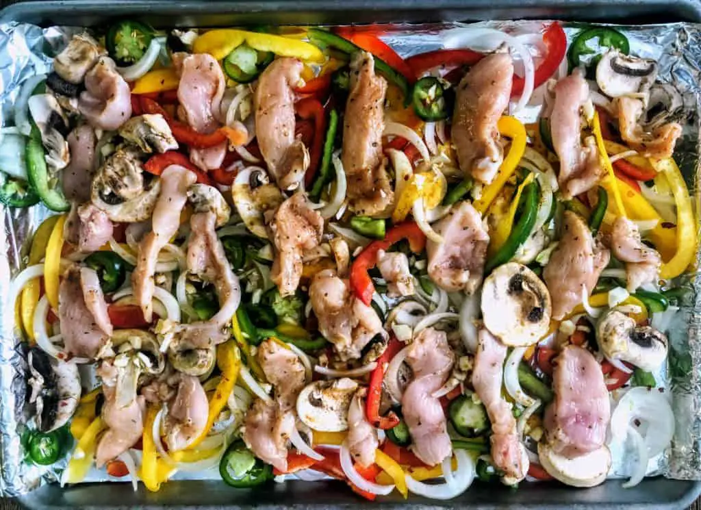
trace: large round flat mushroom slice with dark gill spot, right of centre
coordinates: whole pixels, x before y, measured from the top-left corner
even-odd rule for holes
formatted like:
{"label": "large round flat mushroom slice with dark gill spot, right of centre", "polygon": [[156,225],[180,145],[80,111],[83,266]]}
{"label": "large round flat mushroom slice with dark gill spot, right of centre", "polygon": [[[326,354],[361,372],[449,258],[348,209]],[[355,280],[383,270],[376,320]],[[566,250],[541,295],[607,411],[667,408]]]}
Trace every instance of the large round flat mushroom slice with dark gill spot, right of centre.
{"label": "large round flat mushroom slice with dark gill spot, right of centre", "polygon": [[499,266],[484,280],[484,325],[505,345],[531,345],[550,326],[550,293],[536,273],[517,262]]}

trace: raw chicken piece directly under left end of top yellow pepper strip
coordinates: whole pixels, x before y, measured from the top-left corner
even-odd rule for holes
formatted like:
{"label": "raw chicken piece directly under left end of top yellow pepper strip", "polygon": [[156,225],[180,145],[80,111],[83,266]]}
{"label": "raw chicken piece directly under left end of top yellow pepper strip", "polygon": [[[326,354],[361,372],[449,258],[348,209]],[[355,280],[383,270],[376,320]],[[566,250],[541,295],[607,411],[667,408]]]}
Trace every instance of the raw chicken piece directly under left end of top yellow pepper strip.
{"label": "raw chicken piece directly under left end of top yellow pepper strip", "polygon": [[226,89],[226,79],[219,62],[207,53],[186,55],[179,70],[177,98],[187,123],[200,133],[216,130],[219,127],[216,112]]}

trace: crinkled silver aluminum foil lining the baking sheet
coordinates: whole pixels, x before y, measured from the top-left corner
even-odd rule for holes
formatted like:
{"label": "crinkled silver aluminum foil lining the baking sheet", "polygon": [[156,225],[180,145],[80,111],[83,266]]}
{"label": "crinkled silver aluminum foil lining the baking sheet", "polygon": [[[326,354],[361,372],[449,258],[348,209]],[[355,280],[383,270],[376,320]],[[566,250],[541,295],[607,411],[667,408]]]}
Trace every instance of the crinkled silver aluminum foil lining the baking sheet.
{"label": "crinkled silver aluminum foil lining the baking sheet", "polygon": [[[566,23],[571,40],[580,26]],[[490,27],[516,34],[537,34],[543,22],[482,22],[474,25],[450,24],[399,26],[383,36],[403,55],[412,55],[442,47],[447,31],[465,27]],[[631,53],[656,60],[659,79],[674,85],[684,97],[686,120],[683,139],[675,151],[675,159],[691,193],[696,210],[699,206],[699,138],[701,113],[701,25],[676,23],[644,27],[615,27],[630,41]],[[50,70],[55,55],[72,34],[74,27],[41,29],[24,23],[0,25],[0,112],[2,126],[13,125],[13,104],[23,81]],[[538,90],[528,108],[521,113],[524,122],[536,118]],[[32,232],[51,213],[41,206],[25,210],[9,210],[0,205],[0,495],[14,496],[38,487],[41,483],[60,479],[65,462],[52,467],[37,467],[24,461],[21,434],[32,418],[27,413],[27,368],[20,336],[15,331],[15,314],[8,309],[11,278],[26,263]],[[701,253],[701,251],[700,251]],[[697,262],[700,256],[697,254]],[[664,392],[672,402],[676,430],[671,448],[650,460],[648,475],[662,474],[669,478],[701,480],[701,283],[693,275],[683,277],[693,286],[690,303],[676,312],[669,312],[665,327],[671,353],[669,363],[655,374],[662,381]],[[615,397],[615,395],[614,395]],[[628,445],[611,445],[617,462],[610,476],[629,476],[629,463],[634,455],[625,455]],[[626,460],[627,459],[627,460]],[[176,479],[219,478],[217,469],[198,474],[179,473]],[[104,471],[93,470],[86,481],[114,481]]]}

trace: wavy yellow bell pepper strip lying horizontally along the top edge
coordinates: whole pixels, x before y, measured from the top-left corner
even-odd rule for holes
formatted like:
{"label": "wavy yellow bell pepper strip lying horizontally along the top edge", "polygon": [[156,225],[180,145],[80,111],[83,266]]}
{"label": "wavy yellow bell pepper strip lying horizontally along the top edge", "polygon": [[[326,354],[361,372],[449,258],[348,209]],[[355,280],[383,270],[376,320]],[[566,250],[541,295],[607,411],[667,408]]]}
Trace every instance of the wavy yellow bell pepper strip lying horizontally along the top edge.
{"label": "wavy yellow bell pepper strip lying horizontally along the top edge", "polygon": [[215,29],[200,35],[192,45],[193,53],[209,53],[224,60],[243,43],[258,51],[271,51],[280,57],[294,57],[304,62],[324,62],[326,57],[313,44],[299,39],[236,29]]}

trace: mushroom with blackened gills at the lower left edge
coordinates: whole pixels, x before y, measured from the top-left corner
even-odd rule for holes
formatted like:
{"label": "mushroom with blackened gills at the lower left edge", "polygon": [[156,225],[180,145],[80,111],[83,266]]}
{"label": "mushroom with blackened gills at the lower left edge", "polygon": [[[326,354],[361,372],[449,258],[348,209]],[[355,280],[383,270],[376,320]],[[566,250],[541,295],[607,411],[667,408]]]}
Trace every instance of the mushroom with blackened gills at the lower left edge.
{"label": "mushroom with blackened gills at the lower left edge", "polygon": [[34,406],[36,428],[50,432],[71,419],[81,398],[81,377],[78,366],[48,357],[38,348],[27,357],[31,388],[29,404]]}

